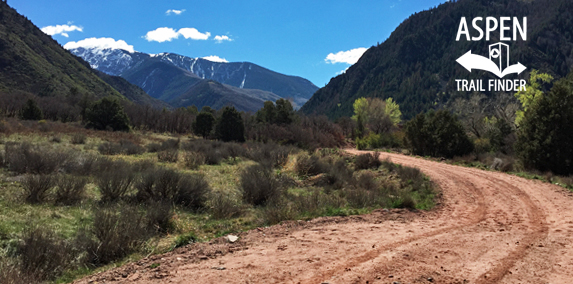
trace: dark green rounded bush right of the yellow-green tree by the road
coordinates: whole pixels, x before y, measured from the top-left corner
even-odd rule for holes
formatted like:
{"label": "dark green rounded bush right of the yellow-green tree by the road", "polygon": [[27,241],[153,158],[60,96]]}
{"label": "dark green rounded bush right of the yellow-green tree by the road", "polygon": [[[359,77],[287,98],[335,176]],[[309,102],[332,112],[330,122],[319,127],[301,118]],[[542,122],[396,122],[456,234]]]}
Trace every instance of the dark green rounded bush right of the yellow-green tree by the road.
{"label": "dark green rounded bush right of the yellow-green tree by the road", "polygon": [[446,110],[418,114],[406,123],[405,132],[416,155],[453,158],[474,149],[460,121]]}

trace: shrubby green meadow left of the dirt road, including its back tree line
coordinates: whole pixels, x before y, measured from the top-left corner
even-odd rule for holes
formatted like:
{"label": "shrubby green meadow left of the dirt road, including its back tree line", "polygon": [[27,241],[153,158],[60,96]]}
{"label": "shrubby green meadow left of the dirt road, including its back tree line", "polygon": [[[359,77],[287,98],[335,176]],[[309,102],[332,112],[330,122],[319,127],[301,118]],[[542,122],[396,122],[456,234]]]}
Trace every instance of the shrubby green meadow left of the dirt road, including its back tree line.
{"label": "shrubby green meadow left of the dirt road, including its back tree line", "polygon": [[25,101],[0,122],[0,283],[65,283],[285,220],[434,206],[419,170],[348,155],[338,125],[271,104],[163,112],[203,117],[193,135],[136,127],[111,99],[83,122],[37,120]]}

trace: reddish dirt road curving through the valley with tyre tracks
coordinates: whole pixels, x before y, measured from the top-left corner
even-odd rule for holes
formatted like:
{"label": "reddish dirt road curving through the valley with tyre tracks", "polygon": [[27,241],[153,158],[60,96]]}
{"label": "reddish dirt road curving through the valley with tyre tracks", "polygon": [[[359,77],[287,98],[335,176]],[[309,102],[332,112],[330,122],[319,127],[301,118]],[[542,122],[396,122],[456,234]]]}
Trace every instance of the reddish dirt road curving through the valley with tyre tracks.
{"label": "reddish dirt road curving through the valley with tyre tracks", "polygon": [[385,157],[429,175],[443,204],[429,213],[377,210],[253,230],[233,244],[188,246],[78,283],[573,283],[571,193],[497,172]]}

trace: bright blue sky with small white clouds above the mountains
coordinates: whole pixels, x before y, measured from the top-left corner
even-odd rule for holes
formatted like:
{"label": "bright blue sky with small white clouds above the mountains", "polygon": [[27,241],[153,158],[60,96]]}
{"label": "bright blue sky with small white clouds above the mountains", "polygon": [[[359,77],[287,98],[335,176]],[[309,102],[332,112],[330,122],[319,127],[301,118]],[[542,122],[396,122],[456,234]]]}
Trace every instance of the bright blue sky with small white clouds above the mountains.
{"label": "bright blue sky with small white clouds above the mountains", "polygon": [[[249,61],[319,87],[444,0],[9,0],[60,44]],[[82,41],[95,38],[88,41]],[[101,38],[107,38],[102,40]],[[119,42],[120,40],[124,41]]]}

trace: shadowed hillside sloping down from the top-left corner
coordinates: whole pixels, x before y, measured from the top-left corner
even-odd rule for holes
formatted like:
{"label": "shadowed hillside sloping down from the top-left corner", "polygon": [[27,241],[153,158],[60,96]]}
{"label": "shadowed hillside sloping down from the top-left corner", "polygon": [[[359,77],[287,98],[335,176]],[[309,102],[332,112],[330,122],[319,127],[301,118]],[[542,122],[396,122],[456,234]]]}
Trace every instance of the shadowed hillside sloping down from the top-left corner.
{"label": "shadowed hillside sloping down from the top-left corner", "polygon": [[[87,95],[128,97],[138,103],[156,103],[128,82],[98,77],[81,58],[62,48],[26,17],[0,2],[0,92],[22,91],[41,97]],[[110,84],[122,85],[122,92]],[[123,94],[123,95],[122,95]]]}

